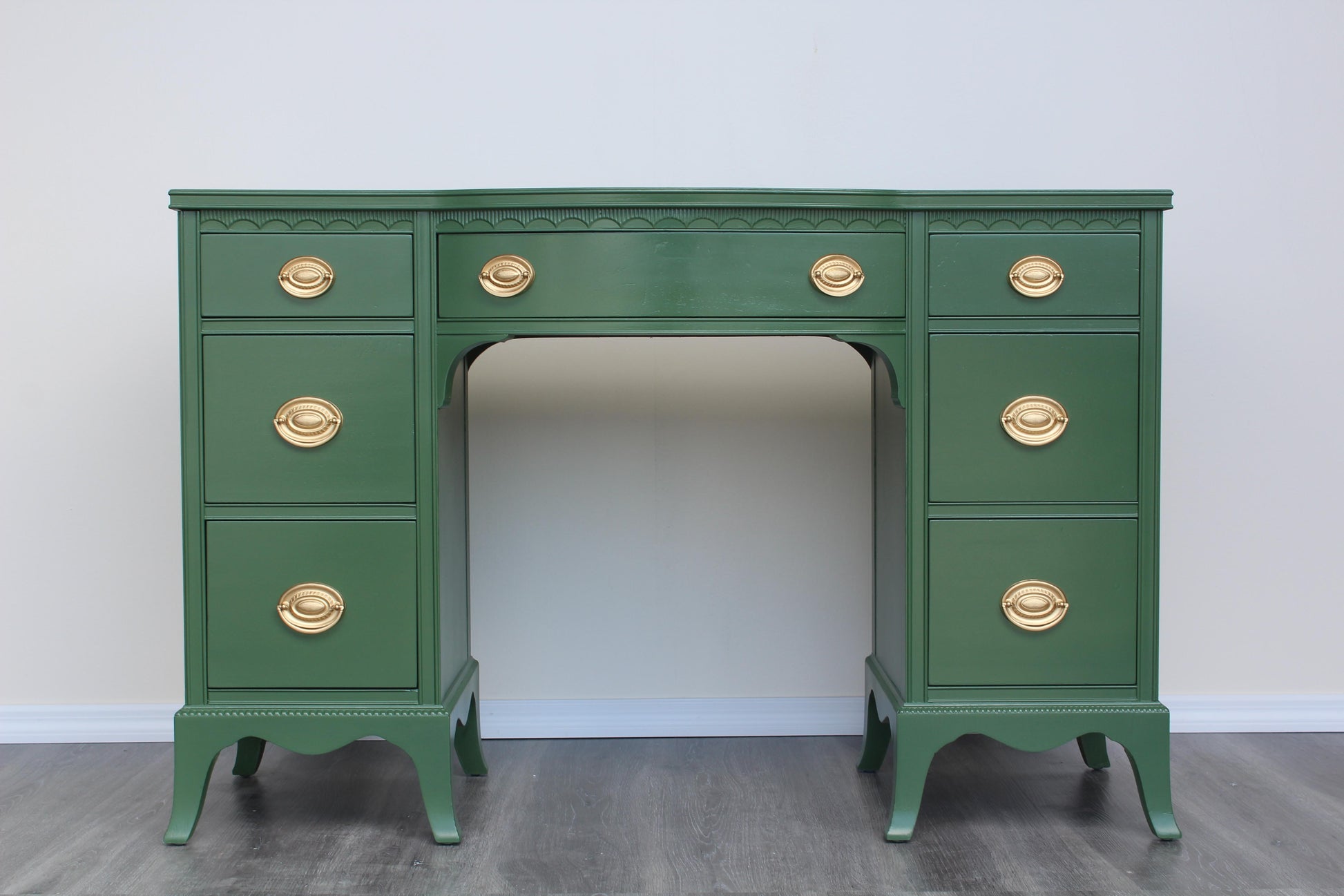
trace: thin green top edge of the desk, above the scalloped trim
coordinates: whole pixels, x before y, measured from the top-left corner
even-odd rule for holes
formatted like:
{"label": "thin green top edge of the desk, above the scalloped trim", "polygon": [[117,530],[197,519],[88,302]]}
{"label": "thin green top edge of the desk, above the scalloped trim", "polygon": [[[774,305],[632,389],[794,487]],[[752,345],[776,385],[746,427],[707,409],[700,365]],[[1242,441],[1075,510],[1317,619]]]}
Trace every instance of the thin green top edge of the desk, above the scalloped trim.
{"label": "thin green top edge of the desk, above the scalloped trim", "polygon": [[942,211],[1172,207],[1171,190],[169,190],[169,209],[450,211],[535,207],[823,207]]}

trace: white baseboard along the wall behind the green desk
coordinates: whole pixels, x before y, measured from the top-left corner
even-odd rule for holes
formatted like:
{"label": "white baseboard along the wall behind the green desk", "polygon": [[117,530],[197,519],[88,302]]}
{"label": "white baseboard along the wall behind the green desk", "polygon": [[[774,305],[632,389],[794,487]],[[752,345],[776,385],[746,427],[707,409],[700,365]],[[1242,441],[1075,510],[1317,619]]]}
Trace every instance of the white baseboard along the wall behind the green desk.
{"label": "white baseboard along the wall behind the green desk", "polygon": [[[1344,694],[1172,694],[1173,732],[1344,732]],[[172,740],[177,704],[0,706],[0,744]],[[857,735],[862,697],[484,700],[481,733],[513,737]]]}

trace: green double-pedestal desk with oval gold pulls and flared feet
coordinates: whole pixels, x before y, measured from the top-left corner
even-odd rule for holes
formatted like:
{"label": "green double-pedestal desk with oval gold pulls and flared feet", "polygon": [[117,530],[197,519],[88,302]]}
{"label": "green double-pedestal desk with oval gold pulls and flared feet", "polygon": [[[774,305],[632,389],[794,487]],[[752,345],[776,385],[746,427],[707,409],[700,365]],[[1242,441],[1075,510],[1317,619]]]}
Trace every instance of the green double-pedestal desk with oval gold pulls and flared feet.
{"label": "green double-pedestal desk with oval gold pulls and flared feet", "polygon": [[[862,771],[886,835],[966,733],[1128,753],[1157,702],[1164,191],[173,191],[187,702],[167,842],[237,744],[363,736],[458,842],[484,775],[468,640],[466,378],[524,336],[828,336],[872,369]],[[859,658],[855,658],[857,662]]]}

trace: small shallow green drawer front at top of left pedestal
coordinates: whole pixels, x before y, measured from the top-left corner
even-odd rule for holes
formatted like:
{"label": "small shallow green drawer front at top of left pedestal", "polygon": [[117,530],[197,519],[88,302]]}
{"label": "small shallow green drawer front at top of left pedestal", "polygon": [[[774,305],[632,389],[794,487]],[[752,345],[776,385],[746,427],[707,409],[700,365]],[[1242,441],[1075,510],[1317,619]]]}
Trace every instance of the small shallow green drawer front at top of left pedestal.
{"label": "small shallow green drawer front at top of left pedestal", "polygon": [[[280,272],[293,258],[331,266],[331,285],[304,299]],[[410,318],[409,234],[207,234],[200,238],[200,313],[206,318]]]}

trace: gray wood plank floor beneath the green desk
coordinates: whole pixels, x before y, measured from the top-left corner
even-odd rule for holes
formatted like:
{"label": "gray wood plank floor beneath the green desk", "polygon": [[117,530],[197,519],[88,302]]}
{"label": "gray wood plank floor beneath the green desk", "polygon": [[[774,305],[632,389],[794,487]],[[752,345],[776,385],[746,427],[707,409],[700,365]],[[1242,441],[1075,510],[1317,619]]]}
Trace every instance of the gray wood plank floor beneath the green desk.
{"label": "gray wood plank floor beneath the green desk", "polygon": [[4,893],[1344,893],[1344,735],[1177,735],[1177,819],[1144,825],[1111,744],[964,737],[934,761],[915,839],[882,839],[891,760],[856,737],[488,741],[458,778],[460,846],[429,837],[410,760],[360,741],[226,751],[196,835],[160,842],[169,744],[0,747]]}

